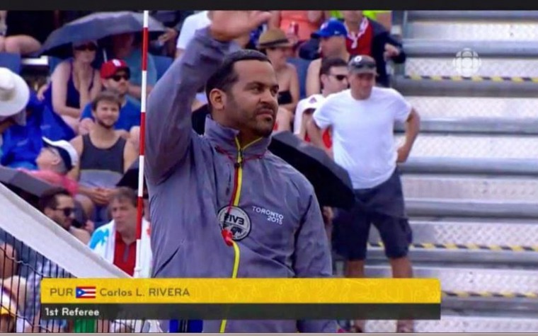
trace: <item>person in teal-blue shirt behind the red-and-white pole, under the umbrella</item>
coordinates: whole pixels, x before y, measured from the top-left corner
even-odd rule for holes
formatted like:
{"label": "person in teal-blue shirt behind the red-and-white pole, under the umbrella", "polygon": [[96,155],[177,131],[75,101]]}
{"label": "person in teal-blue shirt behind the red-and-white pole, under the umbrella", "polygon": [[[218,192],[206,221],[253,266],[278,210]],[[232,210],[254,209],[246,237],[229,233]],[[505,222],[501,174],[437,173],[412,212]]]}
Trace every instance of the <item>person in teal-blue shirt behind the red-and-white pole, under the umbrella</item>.
{"label": "person in teal-blue shirt behind the red-and-white pole, under the umbrella", "polygon": [[[130,69],[130,82],[127,99],[135,105],[140,105],[142,98],[142,40],[135,33],[113,35],[110,58],[122,59]],[[155,60],[151,54],[147,54],[147,93],[157,81],[157,69]]]}

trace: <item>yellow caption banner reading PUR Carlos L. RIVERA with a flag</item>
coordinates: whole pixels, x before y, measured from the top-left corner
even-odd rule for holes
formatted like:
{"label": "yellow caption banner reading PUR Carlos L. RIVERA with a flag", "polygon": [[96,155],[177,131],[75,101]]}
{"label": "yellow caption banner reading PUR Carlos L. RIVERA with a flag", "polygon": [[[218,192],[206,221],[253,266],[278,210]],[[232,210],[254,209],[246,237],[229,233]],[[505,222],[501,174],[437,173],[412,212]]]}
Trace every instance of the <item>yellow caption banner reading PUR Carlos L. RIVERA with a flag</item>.
{"label": "yellow caption banner reading PUR Carlos L. RIVERA with a flag", "polygon": [[43,279],[42,303],[440,303],[438,279]]}

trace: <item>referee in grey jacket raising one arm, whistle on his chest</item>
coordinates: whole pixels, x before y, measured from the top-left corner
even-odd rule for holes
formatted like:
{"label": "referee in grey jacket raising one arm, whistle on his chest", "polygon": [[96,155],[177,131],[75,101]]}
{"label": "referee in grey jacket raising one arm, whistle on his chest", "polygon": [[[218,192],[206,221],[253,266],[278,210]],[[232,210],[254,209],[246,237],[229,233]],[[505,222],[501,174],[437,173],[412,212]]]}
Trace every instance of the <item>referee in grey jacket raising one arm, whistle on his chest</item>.
{"label": "referee in grey jacket raising one arm, whistle on his chest", "polygon": [[[149,95],[144,162],[153,277],[332,276],[314,188],[267,151],[278,110],[275,69],[261,52],[234,52],[231,43],[269,18],[214,11]],[[211,117],[200,137],[190,105],[204,84]],[[203,332],[219,331],[337,332],[338,324],[203,321]]]}

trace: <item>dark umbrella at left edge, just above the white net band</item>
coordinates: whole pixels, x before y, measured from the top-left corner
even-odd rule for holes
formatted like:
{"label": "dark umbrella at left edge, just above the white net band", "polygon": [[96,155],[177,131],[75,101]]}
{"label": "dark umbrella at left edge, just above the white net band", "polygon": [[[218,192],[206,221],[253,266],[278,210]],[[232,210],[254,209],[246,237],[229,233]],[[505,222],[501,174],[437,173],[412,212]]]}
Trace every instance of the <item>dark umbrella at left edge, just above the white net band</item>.
{"label": "dark umbrella at left edge, just above the white net band", "polygon": [[37,206],[39,199],[45,192],[63,189],[62,187],[57,187],[39,178],[35,178],[22,170],[3,166],[0,166],[0,183],[6,185],[6,187],[34,207]]}

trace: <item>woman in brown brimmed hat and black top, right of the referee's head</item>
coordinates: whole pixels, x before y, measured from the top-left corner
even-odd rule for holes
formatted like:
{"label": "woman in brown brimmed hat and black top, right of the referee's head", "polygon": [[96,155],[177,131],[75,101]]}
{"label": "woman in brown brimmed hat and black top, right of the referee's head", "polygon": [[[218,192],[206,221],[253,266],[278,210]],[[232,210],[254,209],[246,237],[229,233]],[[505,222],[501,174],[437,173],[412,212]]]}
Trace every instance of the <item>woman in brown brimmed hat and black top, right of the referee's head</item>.
{"label": "woman in brown brimmed hat and black top, right of the referee's head", "polygon": [[265,52],[277,73],[279,86],[278,104],[280,109],[277,115],[275,130],[290,130],[293,112],[299,102],[299,76],[293,64],[287,62],[286,54],[292,47],[286,34],[278,29],[266,30],[258,40],[258,50]]}

